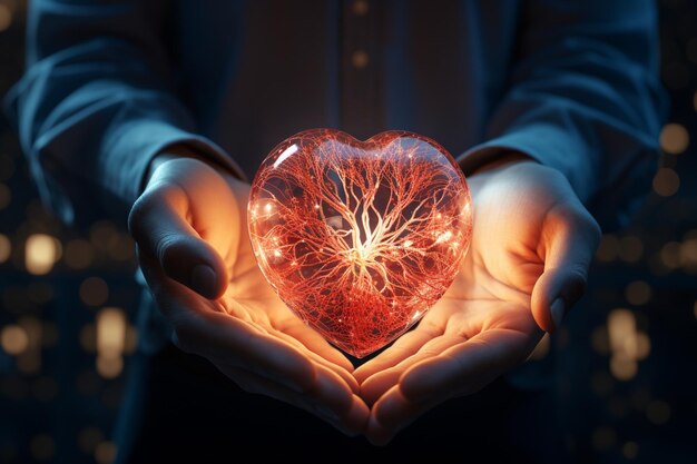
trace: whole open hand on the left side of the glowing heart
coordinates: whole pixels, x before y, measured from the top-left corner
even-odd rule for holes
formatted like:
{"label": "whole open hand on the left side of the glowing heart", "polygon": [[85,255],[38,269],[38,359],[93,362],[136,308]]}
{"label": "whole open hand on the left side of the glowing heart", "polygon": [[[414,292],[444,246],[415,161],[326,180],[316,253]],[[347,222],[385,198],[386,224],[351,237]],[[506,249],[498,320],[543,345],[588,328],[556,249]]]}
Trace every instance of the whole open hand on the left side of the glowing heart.
{"label": "whole open hand on the left side of the glowing heart", "polygon": [[237,385],[301,407],[346,434],[369,409],[353,366],[292,314],[247,235],[248,186],[194,158],[154,162],[129,216],[140,267],[175,343]]}

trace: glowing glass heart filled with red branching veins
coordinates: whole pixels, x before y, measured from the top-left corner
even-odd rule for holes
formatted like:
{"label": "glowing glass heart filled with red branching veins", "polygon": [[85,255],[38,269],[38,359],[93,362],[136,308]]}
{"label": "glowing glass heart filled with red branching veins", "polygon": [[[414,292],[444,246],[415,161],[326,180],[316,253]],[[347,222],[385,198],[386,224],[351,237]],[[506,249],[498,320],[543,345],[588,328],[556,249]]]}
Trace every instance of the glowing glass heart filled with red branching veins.
{"label": "glowing glass heart filled with red branching veins", "polygon": [[356,357],[392,342],[440,299],[472,234],[460,168],[436,142],[297,134],[259,168],[249,237],[285,304]]}

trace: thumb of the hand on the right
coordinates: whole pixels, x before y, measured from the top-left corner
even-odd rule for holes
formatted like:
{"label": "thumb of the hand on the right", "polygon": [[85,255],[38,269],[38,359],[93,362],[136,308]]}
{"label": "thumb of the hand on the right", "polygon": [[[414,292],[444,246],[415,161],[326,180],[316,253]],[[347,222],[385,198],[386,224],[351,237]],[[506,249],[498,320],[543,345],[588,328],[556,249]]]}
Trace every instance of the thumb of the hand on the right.
{"label": "thumb of the hand on the right", "polygon": [[600,228],[580,203],[550,210],[542,227],[544,272],[532,289],[531,307],[540,328],[553,332],[586,290]]}

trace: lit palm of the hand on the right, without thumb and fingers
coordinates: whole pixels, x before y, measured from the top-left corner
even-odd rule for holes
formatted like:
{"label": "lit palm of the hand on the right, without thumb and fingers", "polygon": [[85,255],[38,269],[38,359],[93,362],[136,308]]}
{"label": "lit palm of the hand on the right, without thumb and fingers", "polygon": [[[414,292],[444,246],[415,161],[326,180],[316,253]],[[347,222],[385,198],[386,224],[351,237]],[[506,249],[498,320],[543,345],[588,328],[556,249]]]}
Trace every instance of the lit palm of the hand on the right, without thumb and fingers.
{"label": "lit palm of the hand on the right, without thumb and fingers", "polygon": [[477,220],[470,251],[422,326],[442,333],[430,344],[445,347],[470,340],[505,345],[522,361],[542,336],[530,308],[532,289],[544,270],[537,250],[542,229],[532,225],[541,224],[553,209],[556,196],[528,190],[529,197],[521,197],[511,182],[483,187],[475,178],[471,184]]}

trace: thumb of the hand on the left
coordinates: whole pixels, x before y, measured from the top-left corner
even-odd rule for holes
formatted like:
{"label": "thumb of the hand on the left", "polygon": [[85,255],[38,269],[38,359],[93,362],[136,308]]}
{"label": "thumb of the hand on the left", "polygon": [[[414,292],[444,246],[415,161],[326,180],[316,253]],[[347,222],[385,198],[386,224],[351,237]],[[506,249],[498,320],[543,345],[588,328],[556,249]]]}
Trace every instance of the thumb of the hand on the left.
{"label": "thumb of the hand on the left", "polygon": [[139,253],[158,263],[168,277],[206,298],[218,298],[227,287],[226,266],[185,219],[189,209],[184,190],[159,187],[134,204],[128,228]]}

